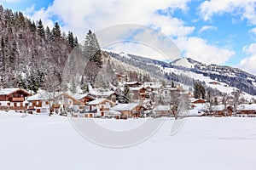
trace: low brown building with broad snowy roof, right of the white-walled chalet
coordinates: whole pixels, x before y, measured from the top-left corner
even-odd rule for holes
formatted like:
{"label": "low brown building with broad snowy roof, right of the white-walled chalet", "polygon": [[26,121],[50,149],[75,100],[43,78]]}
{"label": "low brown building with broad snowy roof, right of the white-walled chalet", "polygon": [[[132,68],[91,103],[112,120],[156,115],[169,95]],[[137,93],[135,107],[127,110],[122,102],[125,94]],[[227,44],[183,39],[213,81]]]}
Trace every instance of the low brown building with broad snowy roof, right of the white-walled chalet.
{"label": "low brown building with broad snowy roof, right of the white-walled chalet", "polygon": [[113,111],[122,113],[121,118],[139,117],[143,115],[143,107],[137,103],[119,104],[112,108]]}

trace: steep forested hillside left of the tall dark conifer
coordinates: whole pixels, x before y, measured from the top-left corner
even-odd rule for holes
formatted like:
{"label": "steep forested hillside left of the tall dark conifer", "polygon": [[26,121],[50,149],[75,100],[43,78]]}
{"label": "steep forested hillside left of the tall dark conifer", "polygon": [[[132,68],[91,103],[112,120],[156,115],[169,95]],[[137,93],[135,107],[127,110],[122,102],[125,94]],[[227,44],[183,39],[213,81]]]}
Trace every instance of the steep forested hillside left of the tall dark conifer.
{"label": "steep forested hillside left of the tall dark conifer", "polygon": [[0,44],[1,88],[37,91],[46,86],[47,76],[61,82],[67,54],[78,46],[78,39],[72,31],[61,31],[57,22],[49,29],[41,20],[0,6]]}

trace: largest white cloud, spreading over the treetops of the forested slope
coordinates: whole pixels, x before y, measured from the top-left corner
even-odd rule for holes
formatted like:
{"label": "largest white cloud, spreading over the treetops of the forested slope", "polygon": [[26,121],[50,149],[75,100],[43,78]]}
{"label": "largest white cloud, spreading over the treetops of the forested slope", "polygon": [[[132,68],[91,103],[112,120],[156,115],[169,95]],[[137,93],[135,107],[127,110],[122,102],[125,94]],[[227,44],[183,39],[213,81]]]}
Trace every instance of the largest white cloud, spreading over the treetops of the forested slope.
{"label": "largest white cloud, spreading over the treetops of the forested slope", "polygon": [[89,29],[98,31],[108,26],[127,23],[153,26],[168,36],[178,37],[188,35],[195,30],[195,27],[185,26],[182,20],[157,14],[156,11],[166,8],[186,11],[189,1],[55,0],[49,8],[33,14],[32,19],[38,20],[43,16],[44,21],[56,15],[64,23],[64,31],[74,31],[80,40],[84,39]]}

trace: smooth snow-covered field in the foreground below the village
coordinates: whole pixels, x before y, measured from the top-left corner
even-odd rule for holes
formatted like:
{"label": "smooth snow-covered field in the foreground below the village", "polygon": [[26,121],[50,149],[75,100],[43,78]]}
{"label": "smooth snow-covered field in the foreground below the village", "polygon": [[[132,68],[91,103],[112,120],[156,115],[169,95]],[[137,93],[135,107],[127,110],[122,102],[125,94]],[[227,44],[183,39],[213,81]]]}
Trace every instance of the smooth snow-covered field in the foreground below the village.
{"label": "smooth snow-covered field in the foreground below the village", "polygon": [[[109,128],[143,121],[96,120]],[[255,169],[256,118],[190,117],[170,136],[172,123],[141,144],[113,149],[84,139],[67,117],[2,111],[0,169]]]}

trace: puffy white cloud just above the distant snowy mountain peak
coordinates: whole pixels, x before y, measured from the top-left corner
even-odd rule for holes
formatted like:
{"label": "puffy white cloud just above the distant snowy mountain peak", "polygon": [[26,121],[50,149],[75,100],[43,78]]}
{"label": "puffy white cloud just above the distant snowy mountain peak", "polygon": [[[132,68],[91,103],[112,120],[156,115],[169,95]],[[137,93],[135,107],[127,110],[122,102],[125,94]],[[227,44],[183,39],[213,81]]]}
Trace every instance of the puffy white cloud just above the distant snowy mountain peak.
{"label": "puffy white cloud just above the distant snowy mountain peak", "polygon": [[183,37],[177,40],[177,44],[185,56],[206,64],[224,65],[230,57],[236,54],[233,50],[213,46],[200,37]]}

